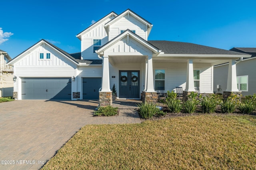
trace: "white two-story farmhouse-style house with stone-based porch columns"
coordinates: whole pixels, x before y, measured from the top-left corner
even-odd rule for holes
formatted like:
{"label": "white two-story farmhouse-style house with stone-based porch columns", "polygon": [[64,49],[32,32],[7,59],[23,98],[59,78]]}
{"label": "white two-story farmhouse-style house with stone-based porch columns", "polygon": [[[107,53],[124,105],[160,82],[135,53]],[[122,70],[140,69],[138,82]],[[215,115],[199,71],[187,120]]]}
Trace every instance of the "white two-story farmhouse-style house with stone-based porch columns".
{"label": "white two-story farmhouse-style house with stone-based porch columns", "polygon": [[[173,41],[148,41],[152,24],[131,10],[111,12],[76,37],[81,52],[68,54],[42,39],[9,62],[17,77],[14,94],[23,99],[99,99],[112,104],[117,98],[156,102],[157,90],[182,86],[185,96],[200,87],[213,93],[213,66],[250,57],[244,53]],[[236,83],[228,91],[235,90]]]}

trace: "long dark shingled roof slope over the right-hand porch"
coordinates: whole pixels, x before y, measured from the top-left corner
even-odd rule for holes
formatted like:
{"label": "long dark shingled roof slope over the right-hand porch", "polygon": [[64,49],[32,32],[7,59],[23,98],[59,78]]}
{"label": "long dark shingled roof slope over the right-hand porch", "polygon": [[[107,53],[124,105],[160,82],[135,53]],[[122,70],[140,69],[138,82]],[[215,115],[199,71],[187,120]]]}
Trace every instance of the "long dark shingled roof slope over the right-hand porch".
{"label": "long dark shingled roof slope over the right-hand porch", "polygon": [[[148,41],[158,47],[164,54],[217,54],[217,55],[246,55],[235,51],[218,49],[193,43],[176,41]],[[248,56],[249,57],[249,56]]]}

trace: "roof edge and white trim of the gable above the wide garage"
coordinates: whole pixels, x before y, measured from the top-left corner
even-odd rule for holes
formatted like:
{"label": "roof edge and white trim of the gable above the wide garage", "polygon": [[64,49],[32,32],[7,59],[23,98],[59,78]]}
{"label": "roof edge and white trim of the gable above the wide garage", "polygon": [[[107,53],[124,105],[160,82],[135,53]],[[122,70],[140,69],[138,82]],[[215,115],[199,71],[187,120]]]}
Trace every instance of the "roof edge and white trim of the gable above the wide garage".
{"label": "roof edge and white trim of the gable above the wide garage", "polygon": [[56,47],[55,45],[53,45],[52,43],[49,43],[48,41],[41,39],[40,41],[38,41],[37,43],[35,43],[34,45],[32,45],[31,47],[29,47],[28,49],[26,49],[25,51],[23,51],[22,53],[20,53],[18,56],[16,56],[14,59],[12,59],[11,61],[9,61],[9,64],[14,64],[16,60],[18,60],[24,53],[28,52],[30,49],[32,49],[33,47],[39,46],[42,43],[46,43],[48,44],[50,47],[54,48],[55,50],[57,50],[58,52],[62,53],[63,55],[65,55],[68,59],[70,59],[71,61],[73,61],[74,63],[78,64],[78,61],[76,61],[76,59],[74,57],[72,57],[70,54],[68,54],[66,51]]}

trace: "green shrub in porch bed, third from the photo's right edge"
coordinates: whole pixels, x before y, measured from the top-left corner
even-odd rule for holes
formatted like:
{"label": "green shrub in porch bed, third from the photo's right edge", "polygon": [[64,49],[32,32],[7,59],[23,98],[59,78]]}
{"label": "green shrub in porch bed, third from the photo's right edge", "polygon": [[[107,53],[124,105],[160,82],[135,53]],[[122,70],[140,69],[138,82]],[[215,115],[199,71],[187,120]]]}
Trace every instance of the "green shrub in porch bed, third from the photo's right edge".
{"label": "green shrub in porch bed, third from the photo's right edge", "polygon": [[216,99],[215,95],[204,96],[201,100],[203,113],[214,113],[216,106],[220,103],[219,99]]}

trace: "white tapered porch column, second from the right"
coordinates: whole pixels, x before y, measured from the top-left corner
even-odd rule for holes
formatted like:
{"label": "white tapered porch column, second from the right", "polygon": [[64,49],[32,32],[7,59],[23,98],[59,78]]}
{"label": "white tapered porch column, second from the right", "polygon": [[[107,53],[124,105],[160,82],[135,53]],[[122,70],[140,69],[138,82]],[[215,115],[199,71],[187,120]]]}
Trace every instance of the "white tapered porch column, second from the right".
{"label": "white tapered porch column, second from the right", "polygon": [[185,91],[194,92],[194,71],[193,71],[193,60],[189,59],[187,64],[187,78],[186,78],[186,88]]}

